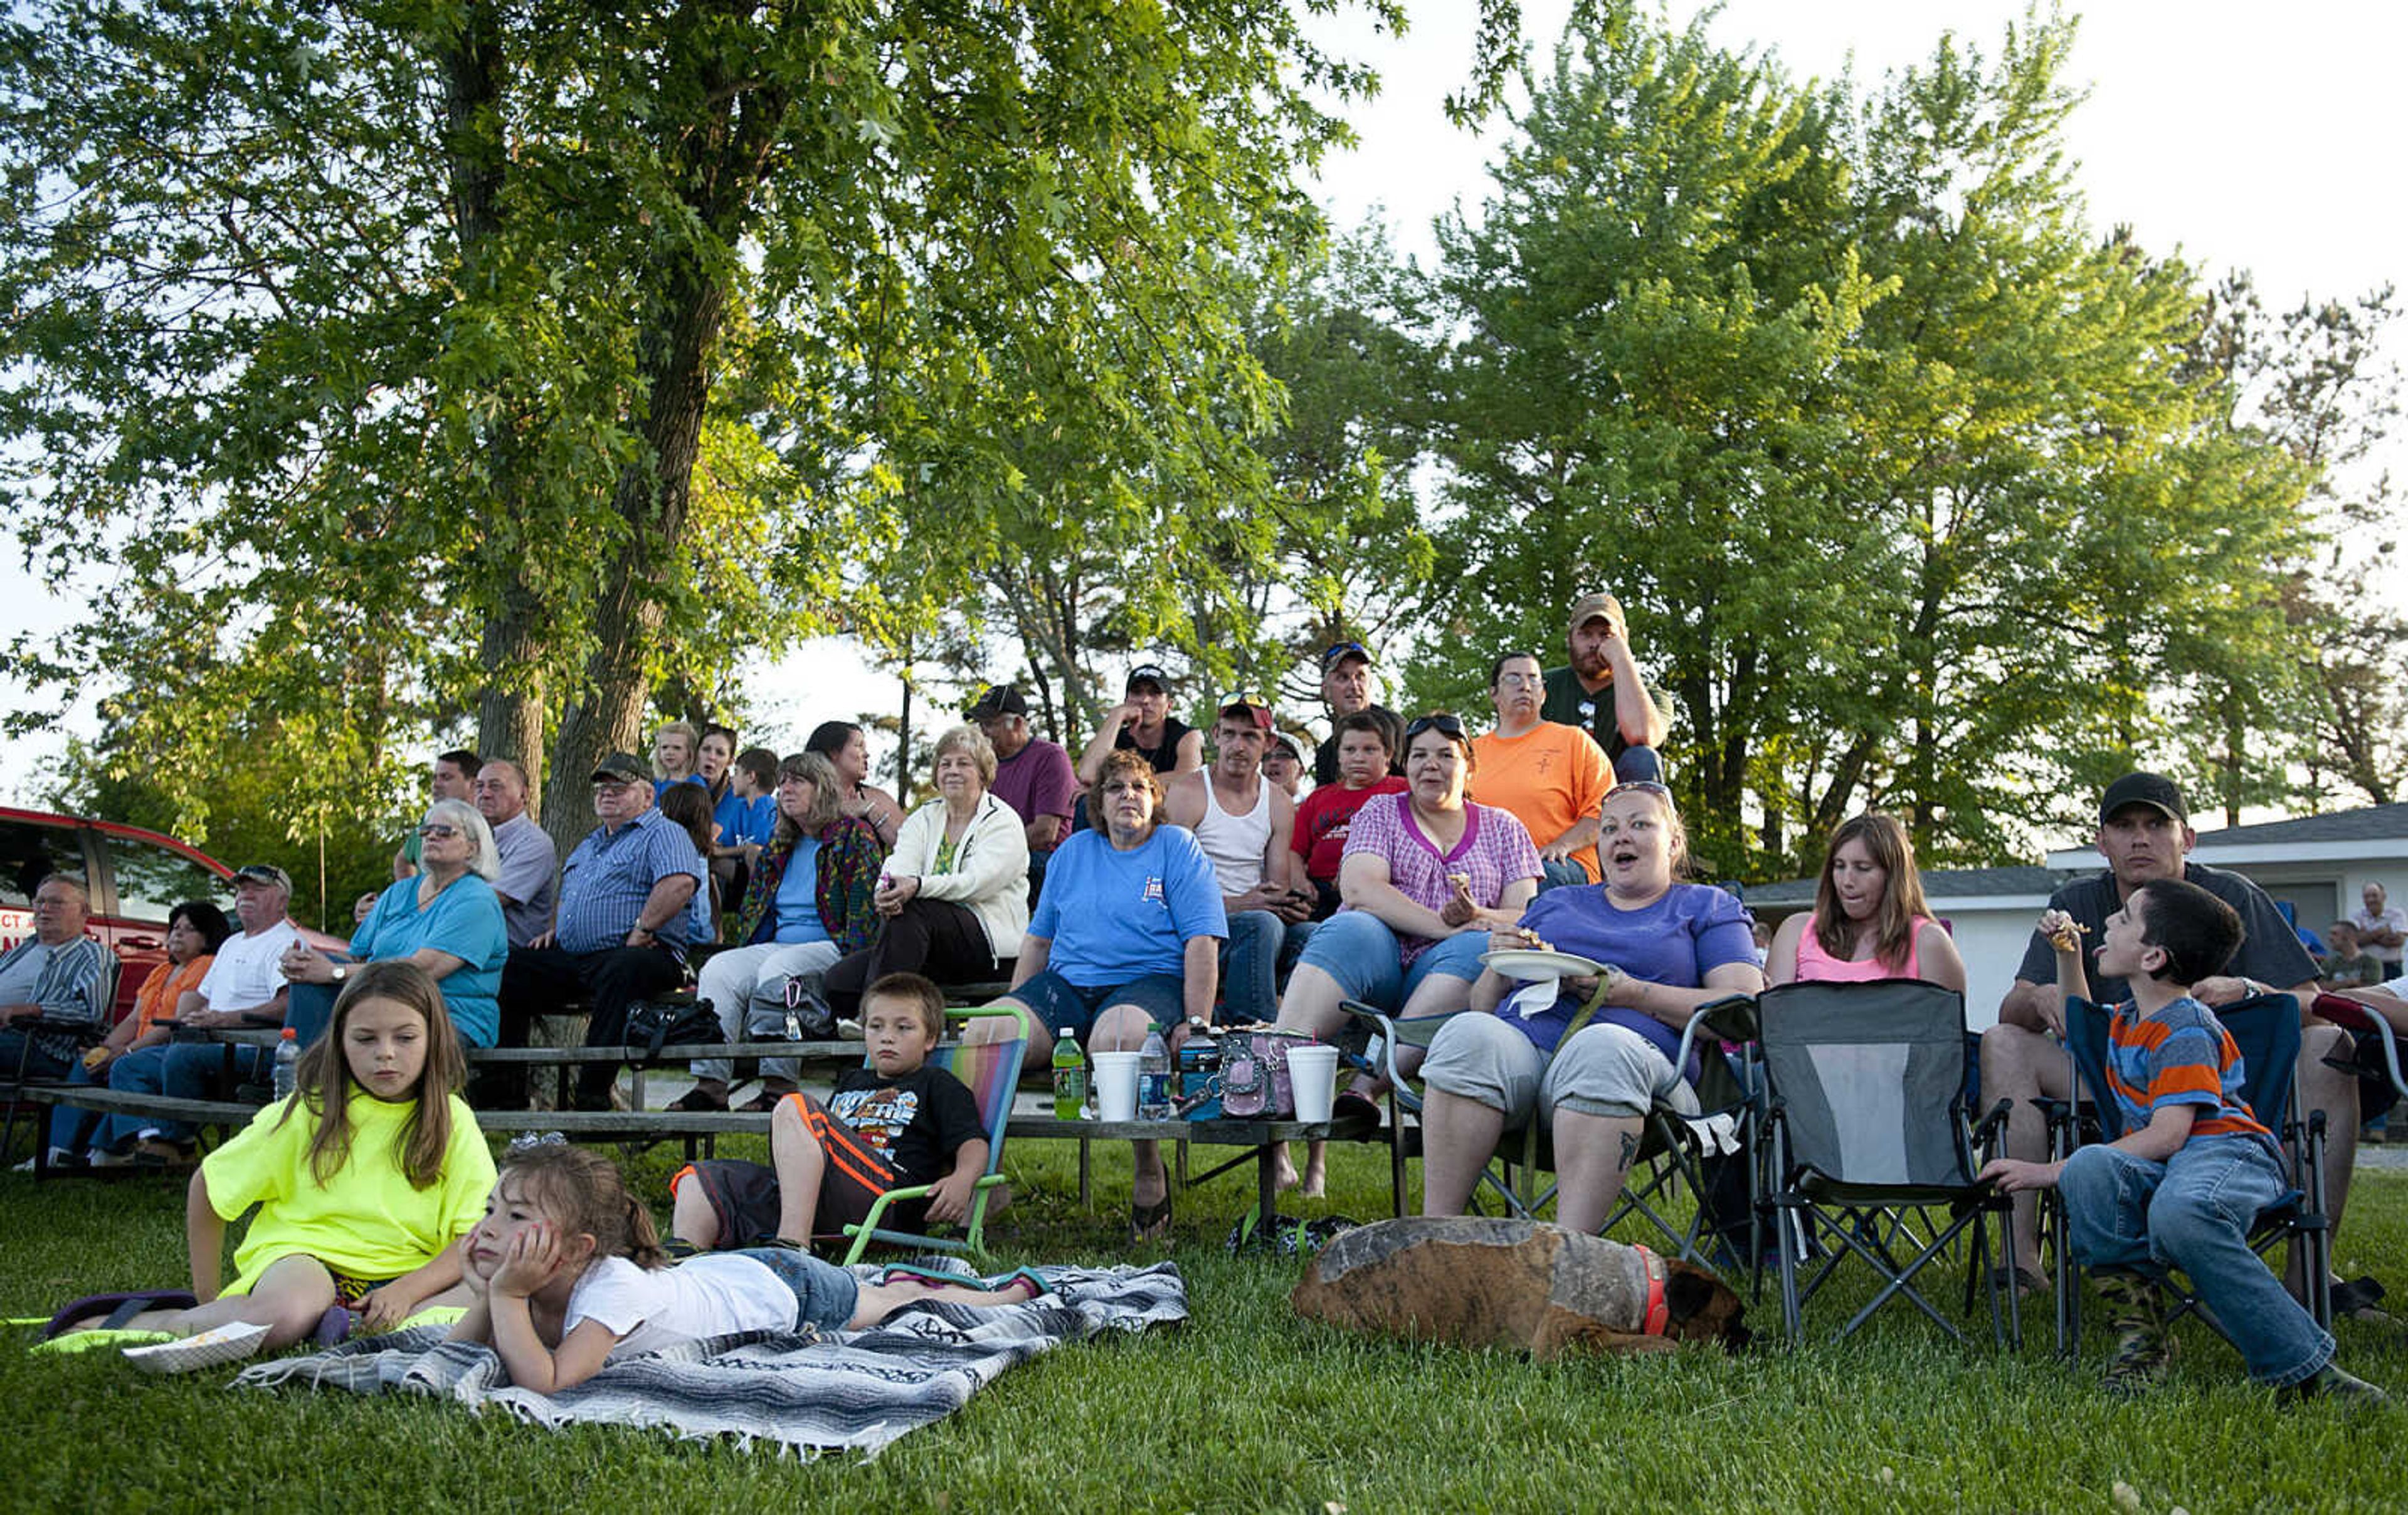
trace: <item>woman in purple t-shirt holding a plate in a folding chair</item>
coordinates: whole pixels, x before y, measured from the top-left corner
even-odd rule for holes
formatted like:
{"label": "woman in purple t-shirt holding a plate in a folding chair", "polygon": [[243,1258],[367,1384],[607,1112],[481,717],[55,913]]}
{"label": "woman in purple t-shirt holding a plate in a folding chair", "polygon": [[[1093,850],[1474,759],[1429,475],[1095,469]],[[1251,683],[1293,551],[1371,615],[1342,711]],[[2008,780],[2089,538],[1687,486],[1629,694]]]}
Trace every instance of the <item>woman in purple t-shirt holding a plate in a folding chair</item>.
{"label": "woman in purple t-shirt holding a plate in a folding chair", "polygon": [[1657,1101],[1698,1108],[1676,1069],[1681,1028],[1700,1004],[1763,988],[1748,913],[1707,884],[1681,884],[1688,833],[1659,783],[1625,783],[1599,809],[1604,884],[1553,889],[1498,937],[1529,937],[1606,963],[1604,1009],[1558,1048],[1594,978],[1515,985],[1481,971],[1471,1007],[1430,1041],[1421,1108],[1423,1195],[1433,1216],[1462,1214],[1507,1130],[1544,1120],[1556,1142],[1556,1219],[1597,1231],[1613,1214]]}

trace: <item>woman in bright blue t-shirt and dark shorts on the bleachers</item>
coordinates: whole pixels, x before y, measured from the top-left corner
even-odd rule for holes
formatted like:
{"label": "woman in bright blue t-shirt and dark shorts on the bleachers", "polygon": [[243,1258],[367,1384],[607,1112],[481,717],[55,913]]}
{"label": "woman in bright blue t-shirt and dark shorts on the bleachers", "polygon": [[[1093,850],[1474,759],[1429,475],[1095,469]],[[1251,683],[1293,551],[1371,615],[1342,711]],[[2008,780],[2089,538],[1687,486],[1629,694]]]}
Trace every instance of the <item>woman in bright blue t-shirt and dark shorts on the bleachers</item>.
{"label": "woman in bright blue t-shirt and dark shorts on the bleachers", "polygon": [[[1091,829],[1055,848],[1045,867],[1011,992],[997,1000],[1021,1012],[1038,1065],[1057,1036],[1081,1038],[1088,1053],[1134,1053],[1156,1026],[1170,1036],[1182,1019],[1211,1021],[1221,975],[1221,879],[1192,831],[1163,824],[1153,764],[1108,751],[1086,814]],[[973,1021],[970,1036],[995,1036],[990,1026],[995,1019]],[[1132,1146],[1129,1240],[1168,1238],[1161,1149]]]}

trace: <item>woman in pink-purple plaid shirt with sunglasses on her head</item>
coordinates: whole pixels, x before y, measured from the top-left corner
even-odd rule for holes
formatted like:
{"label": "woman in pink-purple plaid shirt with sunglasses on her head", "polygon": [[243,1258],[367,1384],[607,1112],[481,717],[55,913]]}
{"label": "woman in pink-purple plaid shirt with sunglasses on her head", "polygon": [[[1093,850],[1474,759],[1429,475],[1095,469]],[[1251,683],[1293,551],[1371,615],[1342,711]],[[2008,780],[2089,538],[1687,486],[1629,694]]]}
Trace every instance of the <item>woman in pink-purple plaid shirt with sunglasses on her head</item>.
{"label": "woman in pink-purple plaid shirt with sunglasses on her head", "polygon": [[[1281,1031],[1334,1036],[1341,1000],[1438,1016],[1471,1002],[1491,932],[1512,930],[1539,891],[1539,848],[1510,812],[1464,800],[1471,737],[1454,715],[1404,727],[1404,792],[1373,795],[1353,814],[1339,857],[1339,913],[1305,942]],[[1339,1115],[1373,1113],[1368,1089],[1339,1096]],[[1322,1192],[1322,1146],[1305,1163],[1305,1195]]]}

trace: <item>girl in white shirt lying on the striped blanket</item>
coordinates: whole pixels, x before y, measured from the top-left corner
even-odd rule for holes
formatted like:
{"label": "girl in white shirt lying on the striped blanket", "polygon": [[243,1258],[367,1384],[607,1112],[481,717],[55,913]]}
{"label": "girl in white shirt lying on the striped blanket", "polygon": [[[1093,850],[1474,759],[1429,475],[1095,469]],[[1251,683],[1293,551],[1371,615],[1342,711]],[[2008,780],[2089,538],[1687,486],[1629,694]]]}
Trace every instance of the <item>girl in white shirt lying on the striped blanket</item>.
{"label": "girl in white shirt lying on the striped blanket", "polygon": [[901,1269],[862,1284],[790,1248],[708,1252],[672,1267],[619,1168],[559,1142],[503,1159],[460,1262],[477,1303],[453,1342],[489,1344],[510,1380],[539,1395],[585,1383],[614,1351],[669,1339],[860,1330],[908,1303],[1019,1305],[1047,1289],[1026,1269],[992,1291]]}

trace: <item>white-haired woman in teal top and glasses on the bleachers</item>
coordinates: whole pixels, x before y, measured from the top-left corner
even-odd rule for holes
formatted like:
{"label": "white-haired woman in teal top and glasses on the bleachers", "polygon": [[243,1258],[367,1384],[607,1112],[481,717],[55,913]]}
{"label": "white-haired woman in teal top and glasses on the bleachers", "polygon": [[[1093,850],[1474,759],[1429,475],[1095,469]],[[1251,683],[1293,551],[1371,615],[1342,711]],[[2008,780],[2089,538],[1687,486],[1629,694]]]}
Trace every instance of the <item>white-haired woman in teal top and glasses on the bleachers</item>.
{"label": "white-haired woman in teal top and glasses on the bleachers", "polygon": [[376,896],[349,956],[332,959],[294,942],[284,949],[284,985],[291,992],[284,1024],[301,1045],[318,1041],[335,1016],[335,995],[359,963],[407,959],[426,968],[443,990],[453,1031],[472,1048],[489,1048],[501,1033],[501,963],[510,956],[510,932],[501,920],[501,853],[494,829],[467,800],[436,800],[419,826],[419,872]]}

